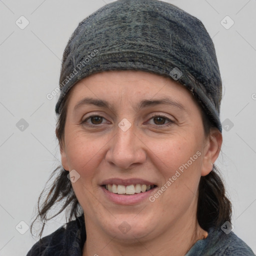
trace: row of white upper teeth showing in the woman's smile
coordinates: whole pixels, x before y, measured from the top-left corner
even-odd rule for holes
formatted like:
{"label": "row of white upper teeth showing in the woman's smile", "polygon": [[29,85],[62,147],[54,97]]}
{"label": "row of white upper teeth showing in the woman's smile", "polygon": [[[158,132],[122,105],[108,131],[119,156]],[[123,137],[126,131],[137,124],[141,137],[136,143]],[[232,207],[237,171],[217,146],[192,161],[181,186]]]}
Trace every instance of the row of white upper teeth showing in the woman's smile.
{"label": "row of white upper teeth showing in the woman's smile", "polygon": [[131,184],[131,185],[120,185],[120,184],[105,184],[102,185],[106,190],[115,193],[115,194],[123,194],[123,195],[132,195],[135,193],[144,193],[152,188],[155,185],[146,185],[146,184]]}

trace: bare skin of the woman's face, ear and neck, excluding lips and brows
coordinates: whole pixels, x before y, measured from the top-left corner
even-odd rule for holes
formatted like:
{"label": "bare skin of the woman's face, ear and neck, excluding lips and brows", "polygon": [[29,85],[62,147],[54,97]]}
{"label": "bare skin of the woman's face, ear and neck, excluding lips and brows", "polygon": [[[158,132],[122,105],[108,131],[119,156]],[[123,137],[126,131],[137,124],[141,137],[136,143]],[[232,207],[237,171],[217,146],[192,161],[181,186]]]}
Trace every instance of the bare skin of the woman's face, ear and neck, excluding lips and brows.
{"label": "bare skin of the woman's face, ear and neck, excluding lips and brows", "polygon": [[[74,110],[84,97],[107,100],[111,107],[90,104]],[[170,104],[135,108],[140,100],[163,97],[179,102],[186,111]],[[125,132],[118,126],[123,118],[131,124]],[[64,169],[80,175],[72,187],[85,217],[83,256],[181,256],[206,237],[196,219],[198,183],[211,171],[222,136],[212,128],[205,138],[200,109],[177,81],[135,70],[85,77],[71,88],[61,142]],[[118,177],[147,179],[161,187],[197,151],[197,159],[153,202],[120,205],[108,200],[99,185]],[[126,233],[118,228],[123,221],[130,226]]]}

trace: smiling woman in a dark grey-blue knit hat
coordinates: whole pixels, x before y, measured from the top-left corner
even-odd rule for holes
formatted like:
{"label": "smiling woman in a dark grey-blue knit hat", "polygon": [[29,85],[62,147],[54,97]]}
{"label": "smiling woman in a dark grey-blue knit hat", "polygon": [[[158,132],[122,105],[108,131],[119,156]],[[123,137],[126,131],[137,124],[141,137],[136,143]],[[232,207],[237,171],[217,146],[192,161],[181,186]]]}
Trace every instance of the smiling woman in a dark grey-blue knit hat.
{"label": "smiling woman in a dark grey-blue knit hat", "polygon": [[107,4],[70,37],[60,89],[62,166],[37,217],[63,201],[69,222],[27,255],[254,255],[214,166],[221,78],[200,20],[157,0]]}

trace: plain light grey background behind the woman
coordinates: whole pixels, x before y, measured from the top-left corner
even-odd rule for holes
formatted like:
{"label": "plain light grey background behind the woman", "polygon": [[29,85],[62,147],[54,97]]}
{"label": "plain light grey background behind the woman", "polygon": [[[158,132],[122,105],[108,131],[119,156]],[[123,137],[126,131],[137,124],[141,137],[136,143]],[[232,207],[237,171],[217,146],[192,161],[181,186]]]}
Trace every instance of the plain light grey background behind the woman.
{"label": "plain light grey background behind the woman", "polygon": [[[58,95],[48,100],[46,94],[58,86],[62,53],[78,22],[107,2],[0,0],[0,255],[25,255],[37,241],[26,224],[60,163]],[[256,0],[168,2],[199,18],[213,39],[223,82],[223,144],[216,163],[231,196],[233,231],[255,253]],[[29,21],[24,29],[21,15]],[[64,214],[51,220],[43,236],[64,221]]]}

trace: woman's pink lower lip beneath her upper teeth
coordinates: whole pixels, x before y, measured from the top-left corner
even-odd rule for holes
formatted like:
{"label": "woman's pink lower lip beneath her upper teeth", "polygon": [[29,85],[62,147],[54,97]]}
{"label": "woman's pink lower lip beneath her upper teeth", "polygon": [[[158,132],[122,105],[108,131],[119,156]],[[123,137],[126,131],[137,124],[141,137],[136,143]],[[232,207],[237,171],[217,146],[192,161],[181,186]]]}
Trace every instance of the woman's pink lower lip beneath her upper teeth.
{"label": "woman's pink lower lip beneath her upper teeth", "polygon": [[105,187],[101,186],[103,193],[105,196],[112,202],[117,203],[117,204],[136,204],[139,202],[142,202],[144,200],[149,200],[150,194],[156,189],[156,187],[151,188],[148,191],[145,192],[140,192],[140,193],[135,193],[131,195],[124,195],[124,194],[115,194],[110,191],[108,191]]}

